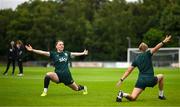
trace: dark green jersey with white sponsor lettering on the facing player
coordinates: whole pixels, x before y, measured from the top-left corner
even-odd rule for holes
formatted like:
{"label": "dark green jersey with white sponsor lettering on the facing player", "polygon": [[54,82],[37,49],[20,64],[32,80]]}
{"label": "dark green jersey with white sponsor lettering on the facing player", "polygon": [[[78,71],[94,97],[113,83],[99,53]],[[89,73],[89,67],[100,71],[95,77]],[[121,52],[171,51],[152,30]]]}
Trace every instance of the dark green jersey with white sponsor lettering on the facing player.
{"label": "dark green jersey with white sponsor lettering on the facing player", "polygon": [[68,63],[70,61],[70,52],[63,51],[61,53],[58,53],[57,51],[50,51],[50,58],[54,63],[55,72],[57,73],[69,72]]}

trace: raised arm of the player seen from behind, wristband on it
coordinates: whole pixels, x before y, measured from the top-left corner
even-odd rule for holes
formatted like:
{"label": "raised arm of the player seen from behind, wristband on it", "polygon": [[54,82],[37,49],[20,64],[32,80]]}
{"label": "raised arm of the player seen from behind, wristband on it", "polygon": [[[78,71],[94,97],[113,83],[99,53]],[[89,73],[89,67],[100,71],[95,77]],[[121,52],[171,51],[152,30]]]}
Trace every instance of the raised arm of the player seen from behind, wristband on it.
{"label": "raised arm of the player seen from behind, wristband on it", "polygon": [[151,53],[152,54],[156,53],[164,44],[166,44],[170,40],[171,40],[171,35],[167,35],[166,38],[162,42],[160,42],[154,48],[151,49]]}

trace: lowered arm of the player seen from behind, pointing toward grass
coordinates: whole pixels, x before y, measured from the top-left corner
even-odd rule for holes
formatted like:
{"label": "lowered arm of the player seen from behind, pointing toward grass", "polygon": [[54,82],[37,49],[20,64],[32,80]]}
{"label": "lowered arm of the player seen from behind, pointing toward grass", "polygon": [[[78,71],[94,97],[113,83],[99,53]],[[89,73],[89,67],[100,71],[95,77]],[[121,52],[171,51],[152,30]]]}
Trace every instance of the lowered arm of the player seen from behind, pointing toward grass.
{"label": "lowered arm of the player seen from behind, pointing toward grass", "polygon": [[125,71],[125,73],[123,74],[123,76],[120,78],[120,80],[117,82],[116,87],[120,87],[122,82],[124,81],[125,78],[127,78],[129,76],[129,74],[134,70],[135,67],[130,66],[128,67],[128,69]]}

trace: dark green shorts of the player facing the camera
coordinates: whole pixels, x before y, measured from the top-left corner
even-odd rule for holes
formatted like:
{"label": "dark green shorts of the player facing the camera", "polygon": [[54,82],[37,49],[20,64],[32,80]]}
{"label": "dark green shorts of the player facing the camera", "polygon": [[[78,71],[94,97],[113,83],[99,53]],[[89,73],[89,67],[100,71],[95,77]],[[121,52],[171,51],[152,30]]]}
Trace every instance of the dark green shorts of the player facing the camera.
{"label": "dark green shorts of the player facing the camera", "polygon": [[55,72],[58,75],[59,82],[58,83],[64,83],[65,85],[70,85],[74,82],[71,73],[58,73]]}

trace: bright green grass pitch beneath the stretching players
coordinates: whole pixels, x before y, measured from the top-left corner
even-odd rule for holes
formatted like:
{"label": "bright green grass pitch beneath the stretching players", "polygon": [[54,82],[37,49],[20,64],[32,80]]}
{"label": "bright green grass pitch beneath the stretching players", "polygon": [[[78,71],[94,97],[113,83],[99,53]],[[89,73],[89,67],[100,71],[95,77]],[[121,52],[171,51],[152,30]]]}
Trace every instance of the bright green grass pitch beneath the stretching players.
{"label": "bright green grass pitch beneath the stretching players", "polygon": [[[157,98],[158,87],[146,88],[137,101],[115,102],[118,90],[116,82],[125,69],[72,68],[74,80],[88,87],[88,95],[76,92],[64,84],[50,83],[48,96],[40,97],[43,91],[43,78],[54,68],[25,67],[24,77],[0,74],[0,106],[180,106],[180,70],[156,68],[155,73],[165,75],[165,95],[167,100]],[[18,69],[16,68],[16,73]],[[137,69],[124,81],[121,89],[130,93],[138,75]]]}

